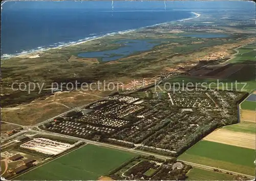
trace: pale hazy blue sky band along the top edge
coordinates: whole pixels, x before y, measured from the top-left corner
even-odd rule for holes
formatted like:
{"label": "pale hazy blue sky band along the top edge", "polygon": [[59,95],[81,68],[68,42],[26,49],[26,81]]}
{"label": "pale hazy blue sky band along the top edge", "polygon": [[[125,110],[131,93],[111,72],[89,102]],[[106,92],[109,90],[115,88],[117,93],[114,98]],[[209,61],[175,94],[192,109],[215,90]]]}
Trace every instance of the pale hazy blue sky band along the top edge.
{"label": "pale hazy blue sky band along the top edge", "polygon": [[[3,4],[3,2],[2,2]],[[253,5],[254,4],[254,5]],[[145,9],[255,9],[255,3],[248,1],[114,1],[113,9],[145,10]],[[4,10],[18,9],[84,9],[112,11],[112,1],[14,1],[5,2]]]}

